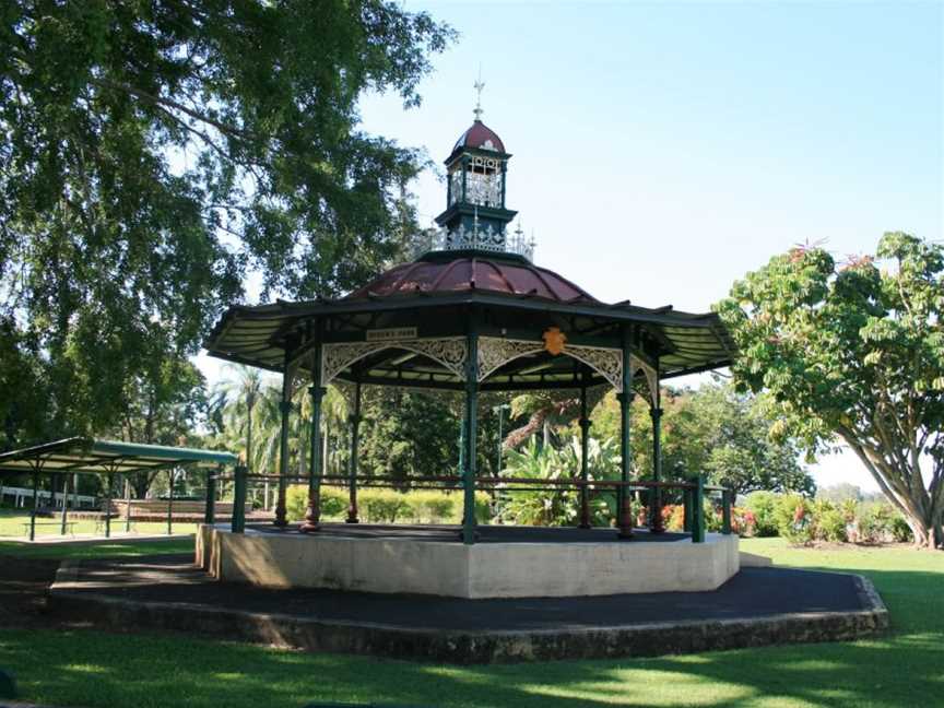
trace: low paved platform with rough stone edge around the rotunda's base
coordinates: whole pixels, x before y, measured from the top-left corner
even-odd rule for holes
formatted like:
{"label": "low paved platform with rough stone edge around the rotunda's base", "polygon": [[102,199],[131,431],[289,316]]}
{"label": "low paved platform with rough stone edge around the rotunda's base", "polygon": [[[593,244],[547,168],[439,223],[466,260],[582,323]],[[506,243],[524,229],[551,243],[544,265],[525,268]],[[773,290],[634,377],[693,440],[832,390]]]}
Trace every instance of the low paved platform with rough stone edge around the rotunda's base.
{"label": "low paved platform with rough stone edge around the rotunda's base", "polygon": [[223,583],[180,555],[70,560],[50,606],[121,632],[458,663],[847,640],[888,626],[868,580],[783,568],[745,568],[709,592],[464,600]]}

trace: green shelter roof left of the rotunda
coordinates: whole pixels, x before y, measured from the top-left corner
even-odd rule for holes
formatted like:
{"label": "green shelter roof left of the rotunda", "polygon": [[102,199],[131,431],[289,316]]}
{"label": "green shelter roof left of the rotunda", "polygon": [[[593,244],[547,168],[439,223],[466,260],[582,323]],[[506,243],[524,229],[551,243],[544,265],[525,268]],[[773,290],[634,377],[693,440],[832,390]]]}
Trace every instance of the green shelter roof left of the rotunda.
{"label": "green shelter roof left of the rotunda", "polygon": [[236,464],[238,458],[222,450],[198,450],[164,445],[71,437],[0,455],[0,473],[140,472],[169,467]]}

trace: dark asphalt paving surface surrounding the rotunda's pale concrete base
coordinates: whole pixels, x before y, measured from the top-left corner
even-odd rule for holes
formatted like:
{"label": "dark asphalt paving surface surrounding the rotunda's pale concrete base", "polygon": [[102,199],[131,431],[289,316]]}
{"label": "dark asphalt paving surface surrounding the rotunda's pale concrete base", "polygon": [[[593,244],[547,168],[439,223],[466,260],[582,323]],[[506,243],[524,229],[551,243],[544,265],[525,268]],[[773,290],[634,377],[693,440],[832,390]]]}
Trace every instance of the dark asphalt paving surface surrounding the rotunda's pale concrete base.
{"label": "dark asphalt paving surface surrounding the rotunda's pale concrete base", "polygon": [[[566,573],[566,569],[562,569]],[[430,595],[292,589],[217,582],[189,556],[84,560],[75,593],[144,602],[186,602],[280,613],[326,622],[377,623],[411,629],[517,630],[606,627],[653,622],[764,617],[858,611],[866,606],[854,576],[744,568],[713,592],[593,598],[463,600]]]}

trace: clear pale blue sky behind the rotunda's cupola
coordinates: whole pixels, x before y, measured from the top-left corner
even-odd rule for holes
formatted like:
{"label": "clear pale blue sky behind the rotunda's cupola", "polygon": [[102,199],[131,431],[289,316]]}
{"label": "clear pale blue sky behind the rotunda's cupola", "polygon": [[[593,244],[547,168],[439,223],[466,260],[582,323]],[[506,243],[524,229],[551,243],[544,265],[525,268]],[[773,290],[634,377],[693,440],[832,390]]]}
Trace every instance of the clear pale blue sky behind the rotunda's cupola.
{"label": "clear pale blue sky behind the rotunda's cupola", "polygon": [[[405,7],[461,37],[420,108],[368,97],[365,129],[441,163],[481,64],[535,261],[600,299],[704,311],[796,243],[944,238],[940,2]],[[442,210],[435,174],[416,194],[424,221]],[[874,488],[850,458],[821,484]]]}

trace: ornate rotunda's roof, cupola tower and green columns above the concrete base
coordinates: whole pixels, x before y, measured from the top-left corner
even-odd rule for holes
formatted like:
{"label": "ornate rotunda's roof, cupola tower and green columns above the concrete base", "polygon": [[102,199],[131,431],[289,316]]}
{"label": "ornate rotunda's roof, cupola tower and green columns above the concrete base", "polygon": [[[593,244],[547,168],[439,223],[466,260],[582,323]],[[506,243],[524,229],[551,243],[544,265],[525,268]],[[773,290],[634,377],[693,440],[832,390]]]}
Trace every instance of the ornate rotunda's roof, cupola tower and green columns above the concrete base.
{"label": "ornate rotunda's roof, cupola tower and green columns above the concrete base", "polygon": [[[583,401],[581,430],[586,452],[589,428],[587,390],[616,390],[622,420],[621,534],[632,538],[630,403],[642,396],[651,406],[657,486],[652,488],[653,530],[659,531],[659,382],[730,364],[734,345],[713,314],[648,308],[629,300],[601,303],[557,273],[532,262],[534,245],[520,229],[509,234],[516,212],[506,206],[510,154],[503,140],[475,120],[446,160],[446,209],[437,229],[418,239],[414,261],[396,266],[363,287],[337,299],[234,306],[212,332],[210,354],[283,375],[280,504],[276,523],[285,523],[284,488],[290,477],[290,401],[296,387],[310,381],[311,506],[304,530],[320,528],[319,485],[321,398],[330,384],[351,391],[351,508],[357,520],[357,445],[361,398],[365,386],[403,386],[464,391],[464,492],[461,538],[475,542],[479,392],[574,389]],[[632,282],[632,264],[626,269]],[[422,435],[417,430],[417,435]],[[575,471],[588,526],[587,455]],[[376,477],[375,477],[376,479]],[[433,475],[429,477],[433,479]],[[441,477],[439,477],[441,482]],[[489,481],[494,483],[494,480]],[[622,486],[621,486],[622,484]],[[697,511],[697,507],[696,507]]]}

